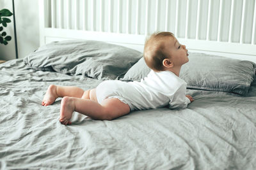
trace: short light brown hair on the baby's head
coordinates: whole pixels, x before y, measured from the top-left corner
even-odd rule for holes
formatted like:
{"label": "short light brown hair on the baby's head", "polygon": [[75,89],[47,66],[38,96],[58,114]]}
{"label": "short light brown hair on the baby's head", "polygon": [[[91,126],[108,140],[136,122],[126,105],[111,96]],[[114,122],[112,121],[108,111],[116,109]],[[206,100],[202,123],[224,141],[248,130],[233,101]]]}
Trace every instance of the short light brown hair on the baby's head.
{"label": "short light brown hair on the baby's head", "polygon": [[166,37],[174,38],[174,34],[172,32],[154,32],[145,41],[143,56],[147,66],[154,71],[163,71],[163,60],[171,57],[164,51],[163,40]]}

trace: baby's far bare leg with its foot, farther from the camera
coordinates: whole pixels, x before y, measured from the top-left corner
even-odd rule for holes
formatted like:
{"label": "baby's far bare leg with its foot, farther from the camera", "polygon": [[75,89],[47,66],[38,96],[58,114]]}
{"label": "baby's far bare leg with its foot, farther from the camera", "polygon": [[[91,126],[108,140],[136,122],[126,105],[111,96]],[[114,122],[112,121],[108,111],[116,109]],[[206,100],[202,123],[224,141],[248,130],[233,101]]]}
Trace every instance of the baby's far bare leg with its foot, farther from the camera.
{"label": "baby's far bare leg with its foot, farther from the camera", "polygon": [[52,103],[54,103],[54,101],[58,97],[70,96],[70,97],[81,98],[83,96],[84,98],[86,97],[88,98],[86,94],[88,94],[88,90],[84,92],[84,90],[80,89],[79,87],[72,87],[72,86],[62,87],[58,85],[50,85],[44,96],[42,105],[43,106],[51,105]]}

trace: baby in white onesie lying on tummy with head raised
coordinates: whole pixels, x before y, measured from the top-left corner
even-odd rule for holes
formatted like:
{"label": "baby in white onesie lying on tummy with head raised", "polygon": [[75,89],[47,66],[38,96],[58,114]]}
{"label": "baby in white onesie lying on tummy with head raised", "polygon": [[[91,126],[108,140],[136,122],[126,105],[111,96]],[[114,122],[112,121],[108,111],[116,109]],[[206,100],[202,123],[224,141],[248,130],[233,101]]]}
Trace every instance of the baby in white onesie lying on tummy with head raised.
{"label": "baby in white onesie lying on tummy with head raised", "polygon": [[96,89],[50,85],[42,101],[48,106],[61,100],[60,122],[70,125],[77,111],[95,120],[113,120],[133,110],[183,109],[194,99],[186,96],[186,82],[180,68],[188,62],[188,50],[171,32],[156,32],[145,42],[144,59],[151,71],[141,81],[102,81]]}

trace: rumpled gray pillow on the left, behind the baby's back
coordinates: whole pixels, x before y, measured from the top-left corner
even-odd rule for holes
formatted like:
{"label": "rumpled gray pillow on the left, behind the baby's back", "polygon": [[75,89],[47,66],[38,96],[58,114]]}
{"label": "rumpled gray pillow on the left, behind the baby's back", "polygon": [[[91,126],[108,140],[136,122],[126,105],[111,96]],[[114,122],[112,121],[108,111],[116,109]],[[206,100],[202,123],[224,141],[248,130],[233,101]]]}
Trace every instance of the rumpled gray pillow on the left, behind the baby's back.
{"label": "rumpled gray pillow on the left, behind the baby's back", "polygon": [[142,56],[131,48],[102,41],[68,40],[41,46],[24,63],[43,71],[113,80],[124,76]]}

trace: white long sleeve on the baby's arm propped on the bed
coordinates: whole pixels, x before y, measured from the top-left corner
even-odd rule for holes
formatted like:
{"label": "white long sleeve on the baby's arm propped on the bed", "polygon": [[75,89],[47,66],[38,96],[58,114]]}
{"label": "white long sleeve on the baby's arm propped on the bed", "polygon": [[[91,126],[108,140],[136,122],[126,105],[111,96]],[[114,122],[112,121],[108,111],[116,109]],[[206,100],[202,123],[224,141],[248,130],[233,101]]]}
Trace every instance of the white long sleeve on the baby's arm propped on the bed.
{"label": "white long sleeve on the baby's arm propped on the bed", "polygon": [[186,85],[180,86],[175,92],[173,99],[170,99],[170,109],[184,109],[188,106],[190,100],[186,97]]}

